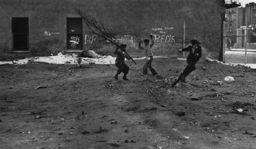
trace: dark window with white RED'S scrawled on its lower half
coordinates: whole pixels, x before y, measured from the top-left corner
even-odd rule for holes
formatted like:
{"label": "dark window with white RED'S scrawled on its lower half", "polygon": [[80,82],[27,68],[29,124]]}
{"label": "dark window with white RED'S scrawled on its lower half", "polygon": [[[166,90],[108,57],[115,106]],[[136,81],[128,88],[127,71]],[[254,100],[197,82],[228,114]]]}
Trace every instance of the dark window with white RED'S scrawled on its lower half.
{"label": "dark window with white RED'S scrawled on its lower half", "polygon": [[82,18],[66,18],[67,35],[66,43],[67,49],[82,49]]}

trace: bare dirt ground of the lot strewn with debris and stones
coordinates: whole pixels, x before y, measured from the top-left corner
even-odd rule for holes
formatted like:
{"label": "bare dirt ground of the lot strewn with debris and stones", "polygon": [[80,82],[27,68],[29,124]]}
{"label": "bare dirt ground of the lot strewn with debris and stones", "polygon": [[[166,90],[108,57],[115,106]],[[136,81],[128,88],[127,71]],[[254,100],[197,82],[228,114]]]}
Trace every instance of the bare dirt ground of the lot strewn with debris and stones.
{"label": "bare dirt ground of the lot strewn with debris and stones", "polygon": [[[256,148],[255,69],[199,60],[188,84],[170,83],[185,60],[114,65],[1,65],[0,148]],[[235,77],[225,82],[226,76]]]}

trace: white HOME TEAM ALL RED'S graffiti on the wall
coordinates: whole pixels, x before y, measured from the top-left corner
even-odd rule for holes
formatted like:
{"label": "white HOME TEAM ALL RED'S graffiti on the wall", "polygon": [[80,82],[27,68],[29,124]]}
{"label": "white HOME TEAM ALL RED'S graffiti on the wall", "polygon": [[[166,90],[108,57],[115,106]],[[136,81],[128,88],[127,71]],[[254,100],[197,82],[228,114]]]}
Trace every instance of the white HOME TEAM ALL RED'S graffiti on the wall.
{"label": "white HOME TEAM ALL RED'S graffiti on the wall", "polygon": [[155,38],[155,42],[159,42],[159,43],[168,43],[170,41],[174,41],[174,36],[175,35],[166,35],[167,33],[170,33],[170,31],[172,31],[174,29],[174,27],[156,27],[156,28],[152,28],[151,30],[153,30],[154,32],[157,31],[158,33],[153,33],[152,35]]}

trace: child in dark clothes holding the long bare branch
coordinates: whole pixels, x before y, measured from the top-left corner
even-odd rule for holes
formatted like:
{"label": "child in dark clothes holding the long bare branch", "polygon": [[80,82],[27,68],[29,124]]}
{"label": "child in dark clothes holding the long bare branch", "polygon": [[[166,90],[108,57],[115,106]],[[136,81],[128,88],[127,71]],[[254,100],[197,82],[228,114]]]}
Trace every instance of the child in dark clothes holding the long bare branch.
{"label": "child in dark clothes holding the long bare branch", "polygon": [[125,52],[126,52],[126,44],[121,44],[121,49],[119,49],[119,46],[117,46],[116,51],[114,52],[115,55],[117,55],[117,59],[116,59],[116,66],[117,66],[117,74],[114,75],[114,78],[116,80],[118,80],[118,75],[123,72],[123,80],[128,80],[128,78],[126,77],[126,75],[129,72],[129,67],[125,64],[125,58],[127,58],[128,60],[131,60],[131,58],[129,58]]}

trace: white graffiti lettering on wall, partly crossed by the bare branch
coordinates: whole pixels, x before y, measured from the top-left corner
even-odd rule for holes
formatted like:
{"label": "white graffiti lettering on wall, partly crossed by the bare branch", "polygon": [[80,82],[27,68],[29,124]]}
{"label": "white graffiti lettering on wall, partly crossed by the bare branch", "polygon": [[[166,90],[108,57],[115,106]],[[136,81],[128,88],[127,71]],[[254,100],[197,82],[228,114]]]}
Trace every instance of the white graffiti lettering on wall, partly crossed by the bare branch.
{"label": "white graffiti lettering on wall, partly crossed by the bare branch", "polygon": [[[113,40],[119,43],[133,43],[133,37],[131,35],[116,35]],[[93,42],[98,41],[97,35],[85,35],[85,44],[92,44]],[[107,41],[110,42],[110,41]]]}

